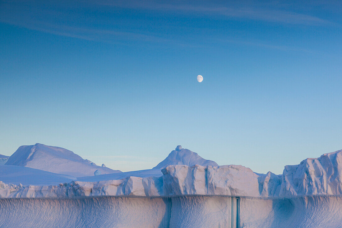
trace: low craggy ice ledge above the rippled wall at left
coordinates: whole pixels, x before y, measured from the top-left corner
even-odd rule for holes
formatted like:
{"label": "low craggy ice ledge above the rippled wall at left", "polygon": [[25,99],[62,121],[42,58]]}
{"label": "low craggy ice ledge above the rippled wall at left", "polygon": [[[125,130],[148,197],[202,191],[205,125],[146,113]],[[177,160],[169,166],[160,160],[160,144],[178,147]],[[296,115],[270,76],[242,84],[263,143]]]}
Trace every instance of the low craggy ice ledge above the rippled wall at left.
{"label": "low craggy ice ledge above the rippled wall at left", "polygon": [[71,181],[60,185],[23,186],[0,181],[0,198],[74,198],[92,196],[163,195],[162,177],[126,177],[97,182]]}

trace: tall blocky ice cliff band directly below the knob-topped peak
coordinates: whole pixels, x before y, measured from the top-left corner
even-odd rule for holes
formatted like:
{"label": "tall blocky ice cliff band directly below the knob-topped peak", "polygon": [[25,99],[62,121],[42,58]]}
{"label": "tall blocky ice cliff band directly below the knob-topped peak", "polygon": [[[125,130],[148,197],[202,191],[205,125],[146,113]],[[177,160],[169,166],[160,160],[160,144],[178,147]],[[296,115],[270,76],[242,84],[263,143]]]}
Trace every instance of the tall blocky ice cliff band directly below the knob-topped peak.
{"label": "tall blocky ice cliff band directly below the knob-topped peak", "polygon": [[274,197],[281,176],[256,174],[241,165],[172,165],[162,169],[165,195],[229,195]]}

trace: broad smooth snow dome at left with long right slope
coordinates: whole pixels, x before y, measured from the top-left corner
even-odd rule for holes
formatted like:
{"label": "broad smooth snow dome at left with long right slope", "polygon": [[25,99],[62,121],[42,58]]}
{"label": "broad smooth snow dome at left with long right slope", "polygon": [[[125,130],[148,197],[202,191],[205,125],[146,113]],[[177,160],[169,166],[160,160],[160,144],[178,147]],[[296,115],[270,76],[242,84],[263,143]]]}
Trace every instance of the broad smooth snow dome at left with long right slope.
{"label": "broad smooth snow dome at left with long right slope", "polygon": [[91,163],[64,148],[36,143],[19,147],[5,165],[25,166],[75,177],[93,176],[95,170],[100,170],[102,174],[121,173],[120,170]]}

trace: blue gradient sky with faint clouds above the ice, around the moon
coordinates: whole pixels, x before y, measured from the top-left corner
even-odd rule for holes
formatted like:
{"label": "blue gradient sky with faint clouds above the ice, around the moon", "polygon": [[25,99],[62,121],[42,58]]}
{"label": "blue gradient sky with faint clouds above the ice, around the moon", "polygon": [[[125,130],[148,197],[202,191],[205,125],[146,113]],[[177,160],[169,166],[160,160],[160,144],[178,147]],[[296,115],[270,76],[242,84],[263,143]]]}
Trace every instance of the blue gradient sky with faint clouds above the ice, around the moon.
{"label": "blue gradient sky with faint clouds above the ice, around the moon", "polygon": [[341,13],[338,1],[1,1],[0,153],[39,142],[128,171],[180,144],[280,174],[342,149]]}

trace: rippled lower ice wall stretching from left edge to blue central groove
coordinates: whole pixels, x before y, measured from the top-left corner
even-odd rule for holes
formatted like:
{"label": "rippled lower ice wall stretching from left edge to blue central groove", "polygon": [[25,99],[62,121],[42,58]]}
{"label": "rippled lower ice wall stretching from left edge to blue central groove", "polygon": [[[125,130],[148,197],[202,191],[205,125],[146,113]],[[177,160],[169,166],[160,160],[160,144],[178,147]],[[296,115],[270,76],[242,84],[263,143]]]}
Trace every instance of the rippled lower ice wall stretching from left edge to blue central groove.
{"label": "rippled lower ice wall stretching from left edge to blue central groove", "polygon": [[89,197],[0,199],[0,227],[169,227],[171,200]]}

